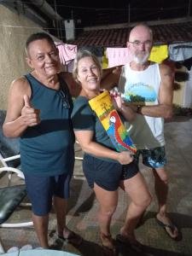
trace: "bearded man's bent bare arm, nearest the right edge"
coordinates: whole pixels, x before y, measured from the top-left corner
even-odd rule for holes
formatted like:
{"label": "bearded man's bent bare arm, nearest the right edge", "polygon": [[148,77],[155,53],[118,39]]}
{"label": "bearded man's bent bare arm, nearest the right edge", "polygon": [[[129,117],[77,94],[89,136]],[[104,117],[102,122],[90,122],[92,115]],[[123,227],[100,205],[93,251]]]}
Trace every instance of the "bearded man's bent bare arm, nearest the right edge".
{"label": "bearded man's bent bare arm, nearest the right edge", "polygon": [[155,106],[133,107],[137,113],[148,115],[152,117],[171,118],[172,117],[172,97],[173,97],[173,73],[170,67],[160,65],[160,90],[159,90],[159,104]]}

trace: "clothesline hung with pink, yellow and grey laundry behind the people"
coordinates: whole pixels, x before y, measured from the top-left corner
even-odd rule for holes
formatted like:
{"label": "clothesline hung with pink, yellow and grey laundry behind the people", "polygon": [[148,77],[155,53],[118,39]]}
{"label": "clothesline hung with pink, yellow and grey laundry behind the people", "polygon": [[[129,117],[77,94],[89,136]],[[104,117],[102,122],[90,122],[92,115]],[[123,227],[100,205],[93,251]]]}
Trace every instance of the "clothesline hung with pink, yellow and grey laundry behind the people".
{"label": "clothesline hung with pink, yellow and grey laundry behind the people", "polygon": [[[77,54],[78,46],[73,44],[64,44],[55,42],[59,49],[61,63],[73,69],[73,60]],[[81,47],[82,48],[82,47]],[[102,67],[114,67],[125,65],[131,61],[131,53],[127,48],[105,48],[105,47],[83,47],[90,49],[101,61]],[[162,44],[154,45],[149,56],[150,61],[160,63],[169,59],[171,61],[186,61],[188,68],[192,66],[192,42],[182,44]]]}

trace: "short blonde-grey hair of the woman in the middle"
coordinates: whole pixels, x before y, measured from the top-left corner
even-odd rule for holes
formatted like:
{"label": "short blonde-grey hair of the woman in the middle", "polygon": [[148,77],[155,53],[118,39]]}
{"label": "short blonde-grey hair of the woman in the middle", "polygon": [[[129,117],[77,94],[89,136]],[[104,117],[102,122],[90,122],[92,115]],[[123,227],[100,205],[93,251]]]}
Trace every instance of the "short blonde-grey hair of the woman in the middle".
{"label": "short blonde-grey hair of the woman in the middle", "polygon": [[82,48],[82,49],[78,50],[78,53],[74,59],[74,66],[73,66],[73,79],[75,79],[75,81],[77,83],[79,83],[79,80],[77,79],[79,61],[81,59],[83,59],[84,57],[90,57],[94,61],[94,63],[96,64],[96,67],[98,68],[99,73],[102,77],[102,65],[101,65],[100,61],[98,60],[98,58],[96,57],[96,55],[94,55],[92,52],[90,52],[90,50]]}

